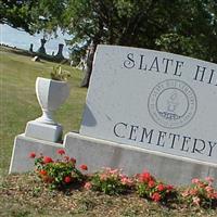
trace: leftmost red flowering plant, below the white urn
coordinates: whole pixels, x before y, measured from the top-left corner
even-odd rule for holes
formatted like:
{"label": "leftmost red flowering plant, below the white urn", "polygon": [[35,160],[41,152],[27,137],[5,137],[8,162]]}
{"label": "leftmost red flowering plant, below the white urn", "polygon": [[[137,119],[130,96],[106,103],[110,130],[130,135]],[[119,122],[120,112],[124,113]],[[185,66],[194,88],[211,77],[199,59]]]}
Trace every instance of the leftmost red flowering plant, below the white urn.
{"label": "leftmost red flowering plant, below the white urn", "polygon": [[62,149],[56,153],[62,156],[62,159],[54,161],[42,154],[37,157],[35,153],[29,154],[29,157],[35,158],[35,171],[38,177],[51,189],[64,189],[72,183],[82,183],[85,175],[76,168],[76,159],[65,155]]}

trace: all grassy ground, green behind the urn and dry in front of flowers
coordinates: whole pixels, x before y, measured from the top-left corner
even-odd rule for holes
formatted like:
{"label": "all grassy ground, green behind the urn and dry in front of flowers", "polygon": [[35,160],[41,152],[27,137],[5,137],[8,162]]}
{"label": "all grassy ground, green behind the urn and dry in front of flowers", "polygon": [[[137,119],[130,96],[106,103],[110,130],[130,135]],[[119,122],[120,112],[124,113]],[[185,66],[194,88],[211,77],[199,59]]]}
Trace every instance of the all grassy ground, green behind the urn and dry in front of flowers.
{"label": "all grassy ground, green behind the urn and dry in front of flowers", "polygon": [[[7,176],[14,137],[25,131],[28,120],[41,115],[35,93],[38,76],[49,77],[54,63],[33,62],[29,56],[0,50],[0,216],[87,216],[87,217],[163,217],[217,216],[217,209],[177,205],[159,205],[136,193],[105,195],[73,189],[51,191],[34,174]],[[58,111],[56,120],[64,132],[78,130],[87,89],[79,88],[82,73],[67,65],[72,72],[71,94]]]}

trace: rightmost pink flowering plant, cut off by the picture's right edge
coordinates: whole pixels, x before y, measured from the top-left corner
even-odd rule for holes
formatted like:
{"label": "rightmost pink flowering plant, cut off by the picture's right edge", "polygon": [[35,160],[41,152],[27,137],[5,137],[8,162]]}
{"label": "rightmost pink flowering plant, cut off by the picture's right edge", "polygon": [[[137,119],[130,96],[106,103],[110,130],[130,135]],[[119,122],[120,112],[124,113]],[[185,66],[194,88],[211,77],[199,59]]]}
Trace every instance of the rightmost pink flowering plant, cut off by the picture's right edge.
{"label": "rightmost pink flowering plant, cut off by the picture's right edge", "polygon": [[181,193],[182,199],[189,205],[212,207],[217,204],[217,191],[213,187],[214,179],[206,177],[205,180],[192,179],[192,184]]}

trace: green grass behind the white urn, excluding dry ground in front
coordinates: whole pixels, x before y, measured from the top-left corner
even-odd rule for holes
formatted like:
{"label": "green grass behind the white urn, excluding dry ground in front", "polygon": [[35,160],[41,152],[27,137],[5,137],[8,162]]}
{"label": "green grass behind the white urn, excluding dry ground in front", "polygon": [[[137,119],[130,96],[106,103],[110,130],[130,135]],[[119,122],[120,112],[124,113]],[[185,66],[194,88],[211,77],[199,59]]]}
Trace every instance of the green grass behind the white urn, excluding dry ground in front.
{"label": "green grass behind the white urn, excluding dry ground in front", "polygon": [[[30,56],[0,50],[0,175],[5,175],[10,165],[13,141],[25,131],[26,123],[41,115],[35,81],[37,77],[49,77],[55,63],[33,62]],[[82,73],[69,65],[72,72],[71,94],[56,112],[56,120],[64,132],[78,130],[87,89],[79,88]]]}

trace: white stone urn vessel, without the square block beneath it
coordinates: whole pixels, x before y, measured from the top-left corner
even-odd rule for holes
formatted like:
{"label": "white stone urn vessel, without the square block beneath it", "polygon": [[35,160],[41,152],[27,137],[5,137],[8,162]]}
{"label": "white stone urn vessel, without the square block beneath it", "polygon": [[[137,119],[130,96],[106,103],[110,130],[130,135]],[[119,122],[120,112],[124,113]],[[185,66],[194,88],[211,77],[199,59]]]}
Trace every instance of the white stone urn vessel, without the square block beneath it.
{"label": "white stone urn vessel, without the square block beneath it", "polygon": [[69,94],[67,81],[38,77],[36,80],[36,94],[42,110],[42,116],[36,120],[56,125],[53,119],[53,112],[65,102]]}

